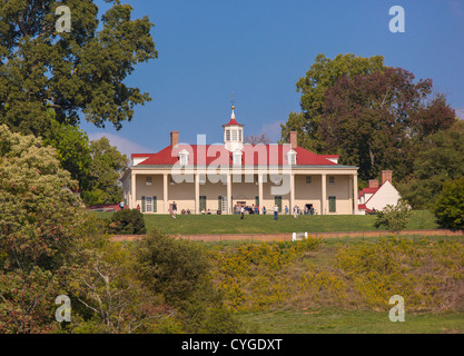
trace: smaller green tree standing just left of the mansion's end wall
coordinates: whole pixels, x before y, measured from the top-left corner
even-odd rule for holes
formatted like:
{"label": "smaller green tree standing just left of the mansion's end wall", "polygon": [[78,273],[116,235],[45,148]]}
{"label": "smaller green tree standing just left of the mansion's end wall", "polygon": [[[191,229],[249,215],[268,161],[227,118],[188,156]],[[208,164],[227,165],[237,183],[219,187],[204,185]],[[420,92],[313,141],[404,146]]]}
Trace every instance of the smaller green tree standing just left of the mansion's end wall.
{"label": "smaller green tree standing just left of the mansion's end wall", "polygon": [[90,142],[92,161],[88,174],[88,188],[82,199],[88,206],[116,204],[122,199],[119,178],[129,160],[106,137]]}

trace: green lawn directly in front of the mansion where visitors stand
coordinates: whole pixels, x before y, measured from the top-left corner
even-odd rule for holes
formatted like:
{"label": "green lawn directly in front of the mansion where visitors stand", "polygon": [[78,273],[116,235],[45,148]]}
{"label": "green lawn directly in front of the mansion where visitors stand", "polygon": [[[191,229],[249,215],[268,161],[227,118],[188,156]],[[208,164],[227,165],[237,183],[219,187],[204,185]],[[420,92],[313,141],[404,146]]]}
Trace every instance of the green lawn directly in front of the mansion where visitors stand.
{"label": "green lawn directly in front of the mansion where visitors stand", "polygon": [[[97,212],[109,218],[111,212]],[[334,215],[334,216],[293,216],[280,215],[274,221],[272,215],[247,215],[240,220],[238,215],[145,215],[148,229],[157,226],[169,234],[275,234],[275,233],[324,233],[324,231],[369,231],[374,227],[372,215]],[[407,226],[408,230],[436,229],[434,216],[427,210],[414,211]]]}

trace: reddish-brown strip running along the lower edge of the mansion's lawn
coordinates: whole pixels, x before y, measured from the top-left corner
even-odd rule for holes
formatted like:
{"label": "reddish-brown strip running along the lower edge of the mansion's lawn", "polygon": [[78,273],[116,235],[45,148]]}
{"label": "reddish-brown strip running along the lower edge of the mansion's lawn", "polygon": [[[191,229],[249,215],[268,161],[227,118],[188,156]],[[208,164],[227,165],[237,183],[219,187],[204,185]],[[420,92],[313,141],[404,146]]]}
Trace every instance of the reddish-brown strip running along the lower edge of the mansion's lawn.
{"label": "reddish-brown strip running along the lower edge of the mansion's lawn", "polygon": [[[340,233],[308,233],[309,236],[320,238],[338,238],[338,237],[381,237],[389,236],[389,231],[340,231]],[[142,235],[115,235],[115,241],[131,241],[140,238]],[[286,234],[198,234],[198,235],[172,235],[177,238],[184,238],[192,241],[290,241],[292,233]],[[463,236],[462,231],[452,230],[407,230],[402,231],[401,236]]]}

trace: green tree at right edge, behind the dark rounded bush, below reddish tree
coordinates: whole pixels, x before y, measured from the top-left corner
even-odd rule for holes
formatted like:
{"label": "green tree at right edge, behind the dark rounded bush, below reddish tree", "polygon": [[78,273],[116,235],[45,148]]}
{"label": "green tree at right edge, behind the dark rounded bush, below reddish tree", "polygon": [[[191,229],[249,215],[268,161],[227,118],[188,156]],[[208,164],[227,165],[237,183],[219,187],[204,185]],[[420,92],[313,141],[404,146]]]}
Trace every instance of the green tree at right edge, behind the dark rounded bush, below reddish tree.
{"label": "green tree at right edge, behind the dark rounded bush, below reddish tree", "polygon": [[413,160],[411,177],[398,185],[414,209],[433,209],[448,180],[464,177],[464,122],[426,137]]}

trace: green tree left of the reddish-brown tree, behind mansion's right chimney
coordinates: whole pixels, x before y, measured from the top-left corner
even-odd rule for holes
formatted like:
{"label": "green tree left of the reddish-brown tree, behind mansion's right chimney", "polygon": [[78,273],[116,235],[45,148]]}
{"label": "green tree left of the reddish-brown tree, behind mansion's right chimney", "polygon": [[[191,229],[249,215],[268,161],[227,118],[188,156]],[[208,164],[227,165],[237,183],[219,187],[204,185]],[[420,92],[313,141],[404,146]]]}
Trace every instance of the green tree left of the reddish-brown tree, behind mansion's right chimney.
{"label": "green tree left of the reddish-brown tree, behind mansion's right chimney", "polygon": [[298,131],[298,145],[306,149],[323,152],[318,137],[318,125],[323,115],[325,92],[344,77],[367,75],[385,70],[384,58],[356,57],[355,55],[338,55],[333,60],[324,55],[317,55],[313,66],[296,83],[302,92],[302,112],[290,112],[288,121],[282,125],[282,142],[288,138],[290,131]]}

